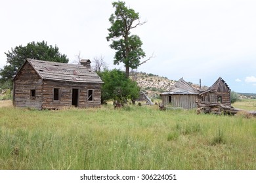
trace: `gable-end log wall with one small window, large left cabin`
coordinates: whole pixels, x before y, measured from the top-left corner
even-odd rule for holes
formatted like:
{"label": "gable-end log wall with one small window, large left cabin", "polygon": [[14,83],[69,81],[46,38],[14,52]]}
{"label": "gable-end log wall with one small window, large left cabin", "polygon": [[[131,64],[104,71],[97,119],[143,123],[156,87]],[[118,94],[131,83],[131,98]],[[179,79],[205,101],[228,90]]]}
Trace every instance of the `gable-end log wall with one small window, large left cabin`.
{"label": "gable-end log wall with one small window, large left cabin", "polygon": [[[13,88],[13,105],[15,107],[41,109],[43,82],[29,63],[26,63],[15,77]],[[31,90],[35,90],[35,97],[30,96]]]}

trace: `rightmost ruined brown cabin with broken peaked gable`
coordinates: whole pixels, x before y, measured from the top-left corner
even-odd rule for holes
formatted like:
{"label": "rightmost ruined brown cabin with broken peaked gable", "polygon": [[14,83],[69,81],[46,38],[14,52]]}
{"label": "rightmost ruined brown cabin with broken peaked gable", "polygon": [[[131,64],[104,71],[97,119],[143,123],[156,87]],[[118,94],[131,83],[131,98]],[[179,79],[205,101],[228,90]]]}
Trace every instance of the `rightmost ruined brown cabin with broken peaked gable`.
{"label": "rightmost ruined brown cabin with broken peaked gable", "polygon": [[228,84],[219,77],[217,81],[207,90],[200,92],[200,100],[209,103],[223,103],[231,105],[230,88]]}

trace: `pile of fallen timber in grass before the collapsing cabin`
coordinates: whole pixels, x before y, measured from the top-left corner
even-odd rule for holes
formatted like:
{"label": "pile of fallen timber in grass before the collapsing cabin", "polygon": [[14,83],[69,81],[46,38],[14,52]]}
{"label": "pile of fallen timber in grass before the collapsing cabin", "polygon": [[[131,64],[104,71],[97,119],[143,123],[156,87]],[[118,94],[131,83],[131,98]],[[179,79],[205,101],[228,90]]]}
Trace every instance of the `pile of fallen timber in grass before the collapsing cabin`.
{"label": "pile of fallen timber in grass before the collapsing cabin", "polygon": [[234,108],[230,105],[222,104],[222,103],[209,103],[205,101],[196,101],[196,105],[198,106],[196,112],[197,114],[205,113],[205,114],[228,114],[234,115],[238,112],[243,112],[248,116],[256,116],[256,111],[243,110],[239,108]]}

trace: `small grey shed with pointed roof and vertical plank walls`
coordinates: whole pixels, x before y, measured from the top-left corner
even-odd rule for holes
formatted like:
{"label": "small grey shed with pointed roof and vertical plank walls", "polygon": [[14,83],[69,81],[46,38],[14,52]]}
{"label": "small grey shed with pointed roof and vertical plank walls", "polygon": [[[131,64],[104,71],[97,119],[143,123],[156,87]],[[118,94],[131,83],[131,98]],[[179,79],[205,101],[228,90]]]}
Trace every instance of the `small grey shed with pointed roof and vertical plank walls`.
{"label": "small grey shed with pointed roof and vertical plank walls", "polygon": [[173,107],[196,108],[196,99],[199,97],[199,90],[181,78],[169,90],[161,93],[161,104],[172,105]]}

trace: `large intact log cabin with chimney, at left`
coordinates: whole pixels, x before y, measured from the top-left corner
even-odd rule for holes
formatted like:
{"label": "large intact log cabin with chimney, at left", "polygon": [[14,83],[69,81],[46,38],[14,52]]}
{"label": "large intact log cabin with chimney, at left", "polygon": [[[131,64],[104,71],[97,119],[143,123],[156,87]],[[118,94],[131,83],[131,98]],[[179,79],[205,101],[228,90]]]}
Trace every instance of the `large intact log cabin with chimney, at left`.
{"label": "large intact log cabin with chimney, at left", "polygon": [[90,64],[89,59],[81,65],[27,59],[13,79],[13,105],[40,110],[100,106],[103,82]]}

